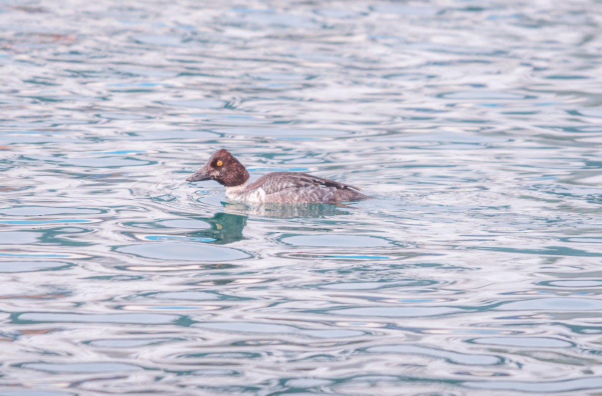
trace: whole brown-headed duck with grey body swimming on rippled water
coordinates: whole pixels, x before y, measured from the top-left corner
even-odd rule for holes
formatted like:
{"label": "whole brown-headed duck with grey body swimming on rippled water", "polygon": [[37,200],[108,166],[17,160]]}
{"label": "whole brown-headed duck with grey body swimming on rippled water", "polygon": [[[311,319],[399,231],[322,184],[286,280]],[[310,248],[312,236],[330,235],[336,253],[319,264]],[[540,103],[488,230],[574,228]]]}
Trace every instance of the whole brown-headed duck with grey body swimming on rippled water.
{"label": "whole brown-headed duck with grey body swimming on rippled water", "polygon": [[248,203],[338,203],[371,199],[358,187],[302,172],[271,172],[249,183],[249,172],[228,150],[217,150],[205,165],[186,179],[214,180],[226,187],[226,197]]}

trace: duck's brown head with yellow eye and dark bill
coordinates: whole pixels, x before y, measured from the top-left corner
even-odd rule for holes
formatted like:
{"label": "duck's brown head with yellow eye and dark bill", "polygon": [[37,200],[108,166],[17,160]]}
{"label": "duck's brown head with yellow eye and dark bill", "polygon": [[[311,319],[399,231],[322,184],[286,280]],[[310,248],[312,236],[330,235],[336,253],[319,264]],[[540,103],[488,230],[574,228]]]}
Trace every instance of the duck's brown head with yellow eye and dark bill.
{"label": "duck's brown head with yellow eye and dark bill", "polygon": [[226,187],[234,187],[245,184],[249,180],[249,172],[228,150],[220,149],[198,172],[186,179],[188,182],[203,180],[214,180]]}

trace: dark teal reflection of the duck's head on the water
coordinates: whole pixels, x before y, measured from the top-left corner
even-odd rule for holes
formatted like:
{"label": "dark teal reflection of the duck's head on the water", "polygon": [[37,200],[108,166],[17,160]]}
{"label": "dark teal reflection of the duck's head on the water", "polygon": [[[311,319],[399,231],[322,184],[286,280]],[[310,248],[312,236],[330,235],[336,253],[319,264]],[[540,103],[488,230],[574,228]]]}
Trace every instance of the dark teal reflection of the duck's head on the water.
{"label": "dark teal reflection of the duck's head on the water", "polygon": [[187,237],[213,238],[216,245],[225,245],[232,242],[244,240],[243,229],[247,225],[247,216],[217,212],[211,218],[195,217],[206,221],[211,225],[210,229],[188,232]]}

